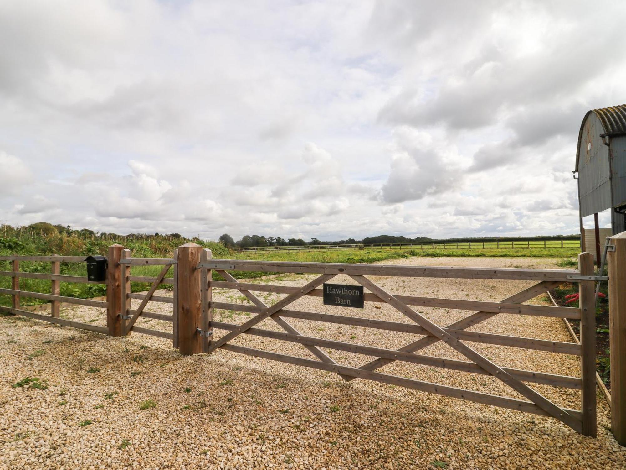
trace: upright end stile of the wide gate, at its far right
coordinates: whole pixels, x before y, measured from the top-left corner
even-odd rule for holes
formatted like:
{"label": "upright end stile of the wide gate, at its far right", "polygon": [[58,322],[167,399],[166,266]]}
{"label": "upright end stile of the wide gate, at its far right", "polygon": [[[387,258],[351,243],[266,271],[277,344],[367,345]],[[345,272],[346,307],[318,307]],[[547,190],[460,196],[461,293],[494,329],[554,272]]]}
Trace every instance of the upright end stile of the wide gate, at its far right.
{"label": "upright end stile of the wide gate, at its far right", "polygon": [[[593,276],[593,254],[578,255],[578,269],[582,276]],[[596,437],[595,392],[595,282],[580,281],[580,365],[582,371],[583,434]]]}

